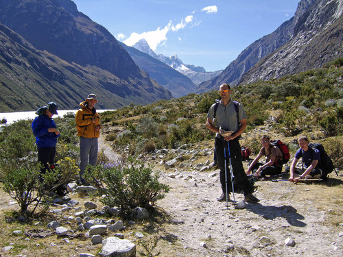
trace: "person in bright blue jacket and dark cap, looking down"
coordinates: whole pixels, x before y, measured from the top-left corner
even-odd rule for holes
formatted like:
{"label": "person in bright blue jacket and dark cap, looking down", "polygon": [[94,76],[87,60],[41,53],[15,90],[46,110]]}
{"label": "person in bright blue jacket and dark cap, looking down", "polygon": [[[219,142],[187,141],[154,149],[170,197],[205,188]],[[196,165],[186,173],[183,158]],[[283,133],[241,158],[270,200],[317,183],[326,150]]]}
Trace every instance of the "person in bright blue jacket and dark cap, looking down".
{"label": "person in bright blue jacket and dark cap, looking down", "polygon": [[44,173],[54,164],[57,138],[60,132],[52,117],[57,114],[57,105],[53,101],[47,103],[36,111],[38,117],[32,122],[32,131],[36,136],[38,148],[38,162],[42,164],[40,173]]}

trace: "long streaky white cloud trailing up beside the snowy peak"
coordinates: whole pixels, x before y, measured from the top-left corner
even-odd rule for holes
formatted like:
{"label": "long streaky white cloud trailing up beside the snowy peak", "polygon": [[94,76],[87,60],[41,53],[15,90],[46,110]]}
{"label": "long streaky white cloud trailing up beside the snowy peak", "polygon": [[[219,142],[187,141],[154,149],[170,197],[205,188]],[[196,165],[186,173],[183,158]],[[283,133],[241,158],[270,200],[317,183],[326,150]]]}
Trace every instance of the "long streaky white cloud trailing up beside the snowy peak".
{"label": "long streaky white cloud trailing up beside the snowy peak", "polygon": [[189,15],[185,19],[182,19],[181,22],[176,25],[172,25],[171,21],[169,21],[169,23],[165,25],[163,29],[161,29],[161,27],[158,27],[154,31],[143,32],[141,34],[133,32],[129,38],[123,41],[123,43],[128,46],[132,46],[136,42],[144,38],[149,44],[152,51],[155,51],[158,45],[165,44],[165,41],[167,40],[168,32],[170,31],[177,32],[179,29],[184,29],[187,25],[192,25],[192,23],[193,23],[193,15]]}

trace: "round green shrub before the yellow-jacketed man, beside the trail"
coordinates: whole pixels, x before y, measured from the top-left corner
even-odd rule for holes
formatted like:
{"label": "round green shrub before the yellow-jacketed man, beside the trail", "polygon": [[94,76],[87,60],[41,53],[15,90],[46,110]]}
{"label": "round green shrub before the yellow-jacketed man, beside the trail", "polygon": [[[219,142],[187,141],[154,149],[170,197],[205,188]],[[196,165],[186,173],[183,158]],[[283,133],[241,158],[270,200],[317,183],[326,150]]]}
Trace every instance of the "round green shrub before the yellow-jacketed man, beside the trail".
{"label": "round green shrub before the yellow-jacketed man, beside the trail", "polygon": [[97,165],[88,169],[84,177],[97,184],[99,195],[105,195],[100,199],[103,204],[119,206],[124,215],[136,207],[154,207],[169,192],[169,186],[158,182],[159,173],[153,174],[152,167],[137,161],[131,161],[126,167]]}

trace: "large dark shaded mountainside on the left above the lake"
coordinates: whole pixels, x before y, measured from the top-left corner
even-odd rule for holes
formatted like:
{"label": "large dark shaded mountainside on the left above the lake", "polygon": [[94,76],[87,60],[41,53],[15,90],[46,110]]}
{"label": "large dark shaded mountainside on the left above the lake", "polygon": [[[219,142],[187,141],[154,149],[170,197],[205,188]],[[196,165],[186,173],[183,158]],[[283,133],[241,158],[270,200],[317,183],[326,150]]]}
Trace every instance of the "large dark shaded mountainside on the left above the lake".
{"label": "large dark shaded mountainside on the left above the lake", "polygon": [[76,108],[91,92],[100,108],[171,98],[71,0],[1,1],[0,23],[2,112],[51,100]]}

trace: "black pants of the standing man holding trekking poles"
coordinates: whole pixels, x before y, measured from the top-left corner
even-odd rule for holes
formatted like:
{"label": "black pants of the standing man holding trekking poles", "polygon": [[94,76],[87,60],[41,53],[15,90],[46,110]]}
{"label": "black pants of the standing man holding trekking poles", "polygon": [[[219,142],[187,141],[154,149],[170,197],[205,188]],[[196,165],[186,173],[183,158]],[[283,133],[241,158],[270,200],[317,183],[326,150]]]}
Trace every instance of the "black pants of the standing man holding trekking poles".
{"label": "black pants of the standing man holding trekking poles", "polygon": [[[254,188],[248,181],[246,173],[243,168],[243,158],[241,156],[241,146],[239,145],[239,140],[235,138],[234,140],[225,141],[223,138],[215,138],[215,153],[217,155],[218,166],[220,168],[220,184],[222,184],[222,191],[226,193],[226,180],[228,182],[228,192],[232,192],[232,183],[230,175],[230,160],[228,158],[228,145],[230,147],[230,160],[233,167],[233,184],[235,188],[239,188],[244,191],[244,195],[248,195],[254,191]],[[224,156],[225,149],[225,156]],[[226,157],[226,176],[225,176],[225,158]]]}

